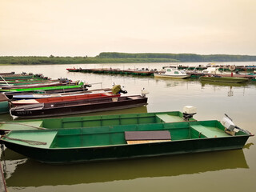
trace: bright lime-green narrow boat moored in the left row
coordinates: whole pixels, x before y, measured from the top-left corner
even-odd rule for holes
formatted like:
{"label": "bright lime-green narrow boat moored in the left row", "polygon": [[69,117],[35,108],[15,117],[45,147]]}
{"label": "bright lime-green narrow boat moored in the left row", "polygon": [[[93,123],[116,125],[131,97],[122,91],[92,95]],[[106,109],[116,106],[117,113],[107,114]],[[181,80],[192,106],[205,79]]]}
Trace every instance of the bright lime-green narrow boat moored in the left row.
{"label": "bright lime-green narrow boat moored in the left row", "polygon": [[33,91],[33,90],[65,90],[71,88],[79,88],[84,86],[83,82],[80,82],[78,85],[71,85],[71,86],[44,86],[44,87],[31,87],[31,88],[18,88],[18,89],[0,89],[0,92],[21,92],[21,91]]}

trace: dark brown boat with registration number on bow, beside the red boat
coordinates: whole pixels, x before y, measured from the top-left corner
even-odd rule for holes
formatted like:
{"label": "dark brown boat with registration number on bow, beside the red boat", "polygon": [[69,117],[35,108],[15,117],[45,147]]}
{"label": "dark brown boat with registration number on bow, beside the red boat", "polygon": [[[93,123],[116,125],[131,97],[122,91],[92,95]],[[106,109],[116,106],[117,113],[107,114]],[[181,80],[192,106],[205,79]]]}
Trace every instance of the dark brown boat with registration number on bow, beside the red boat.
{"label": "dark brown boat with registration number on bow, beside the red boat", "polygon": [[66,114],[82,114],[105,110],[121,110],[145,106],[147,98],[140,95],[116,98],[90,98],[70,102],[39,103],[26,106],[15,106],[10,114],[16,118],[42,118]]}

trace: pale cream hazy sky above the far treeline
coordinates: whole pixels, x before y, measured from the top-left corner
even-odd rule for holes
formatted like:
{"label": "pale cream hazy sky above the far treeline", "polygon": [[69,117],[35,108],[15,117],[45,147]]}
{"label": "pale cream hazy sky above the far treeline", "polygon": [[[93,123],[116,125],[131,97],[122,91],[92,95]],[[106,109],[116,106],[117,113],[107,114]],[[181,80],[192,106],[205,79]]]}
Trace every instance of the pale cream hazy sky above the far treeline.
{"label": "pale cream hazy sky above the far treeline", "polygon": [[256,55],[256,0],[0,0],[0,56]]}

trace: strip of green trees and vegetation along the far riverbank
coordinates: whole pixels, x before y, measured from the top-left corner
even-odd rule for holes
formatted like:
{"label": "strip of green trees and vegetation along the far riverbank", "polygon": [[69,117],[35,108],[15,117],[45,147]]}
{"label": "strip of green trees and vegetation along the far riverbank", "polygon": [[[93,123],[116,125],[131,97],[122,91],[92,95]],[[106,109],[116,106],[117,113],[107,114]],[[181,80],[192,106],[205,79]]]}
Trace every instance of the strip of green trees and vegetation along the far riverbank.
{"label": "strip of green trees and vegetation along the far riverbank", "polygon": [[139,63],[139,62],[255,62],[256,56],[230,54],[126,54],[103,52],[96,57],[0,57],[0,64],[81,64],[81,63]]}

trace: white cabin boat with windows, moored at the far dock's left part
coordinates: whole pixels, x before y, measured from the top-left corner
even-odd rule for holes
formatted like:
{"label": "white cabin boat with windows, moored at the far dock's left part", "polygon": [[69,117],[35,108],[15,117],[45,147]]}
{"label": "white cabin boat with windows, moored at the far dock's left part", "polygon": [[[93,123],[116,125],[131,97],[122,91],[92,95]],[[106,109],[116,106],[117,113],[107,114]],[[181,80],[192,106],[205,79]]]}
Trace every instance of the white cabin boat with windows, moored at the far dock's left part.
{"label": "white cabin boat with windows, moored at the far dock's left part", "polygon": [[155,78],[189,78],[191,75],[186,74],[184,70],[166,68],[166,71],[163,73],[155,73]]}

